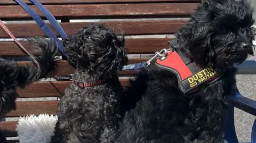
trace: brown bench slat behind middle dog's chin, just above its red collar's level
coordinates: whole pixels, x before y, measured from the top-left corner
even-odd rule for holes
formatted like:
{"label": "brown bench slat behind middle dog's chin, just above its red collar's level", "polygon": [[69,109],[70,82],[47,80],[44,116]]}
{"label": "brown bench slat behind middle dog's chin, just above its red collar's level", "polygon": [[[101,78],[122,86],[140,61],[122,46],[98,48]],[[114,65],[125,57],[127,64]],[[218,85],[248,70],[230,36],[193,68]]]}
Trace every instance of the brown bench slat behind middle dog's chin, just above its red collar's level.
{"label": "brown bench slat behind middle dog's chin, just above its red collar's level", "polygon": [[[141,63],[145,62],[147,59],[145,58],[131,58],[129,59],[128,64],[134,64],[134,63]],[[30,62],[18,62],[19,65],[24,65],[24,64],[29,64]],[[57,67],[57,73],[56,75],[58,76],[66,76],[71,73],[74,73],[75,69],[73,66],[69,65],[67,61],[59,61],[58,62],[58,67]],[[133,74],[133,71],[119,71],[118,74]]]}

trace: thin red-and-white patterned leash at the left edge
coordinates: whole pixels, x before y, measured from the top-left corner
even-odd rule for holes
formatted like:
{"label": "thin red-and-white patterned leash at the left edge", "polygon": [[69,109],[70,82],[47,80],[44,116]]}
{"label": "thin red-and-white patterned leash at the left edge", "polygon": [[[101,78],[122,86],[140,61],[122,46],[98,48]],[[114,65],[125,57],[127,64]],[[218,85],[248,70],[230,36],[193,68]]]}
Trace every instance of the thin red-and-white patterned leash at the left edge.
{"label": "thin red-and-white patterned leash at the left edge", "polygon": [[4,22],[2,20],[0,20],[0,26],[4,29],[4,31],[14,40],[14,42],[21,48],[21,50],[23,52],[25,52],[26,54],[28,54],[32,60],[34,61],[34,63],[38,66],[39,70],[40,70],[40,66],[39,63],[36,61],[35,57],[33,55],[31,55],[27,49],[25,47],[23,47],[21,45],[21,43],[15,38],[15,36],[12,34],[12,32],[5,26]]}

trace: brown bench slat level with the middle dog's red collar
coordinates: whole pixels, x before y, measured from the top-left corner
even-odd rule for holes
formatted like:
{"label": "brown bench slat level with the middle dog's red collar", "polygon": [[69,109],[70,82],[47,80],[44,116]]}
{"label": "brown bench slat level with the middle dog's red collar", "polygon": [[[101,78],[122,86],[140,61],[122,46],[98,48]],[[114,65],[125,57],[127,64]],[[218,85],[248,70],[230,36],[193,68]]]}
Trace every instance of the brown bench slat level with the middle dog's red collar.
{"label": "brown bench slat level with the middle dog's red collar", "polygon": [[[20,98],[61,97],[71,81],[35,82],[25,89],[17,89]],[[129,85],[128,79],[120,79],[123,87]]]}

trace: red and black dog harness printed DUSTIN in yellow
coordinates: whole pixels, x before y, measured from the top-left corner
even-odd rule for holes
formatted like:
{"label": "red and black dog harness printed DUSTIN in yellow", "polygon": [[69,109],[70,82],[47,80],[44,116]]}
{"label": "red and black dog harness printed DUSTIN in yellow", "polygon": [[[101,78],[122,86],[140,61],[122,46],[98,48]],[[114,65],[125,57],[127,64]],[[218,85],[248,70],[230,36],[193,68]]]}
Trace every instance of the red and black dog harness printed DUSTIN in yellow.
{"label": "red and black dog harness printed DUSTIN in yellow", "polygon": [[[175,43],[174,40],[169,41],[173,48]],[[194,61],[190,61],[185,55],[176,51],[171,51],[166,56],[159,58],[156,65],[177,76],[179,88],[184,94],[194,92],[202,85],[210,85],[221,77],[221,74],[212,67],[201,69]]]}

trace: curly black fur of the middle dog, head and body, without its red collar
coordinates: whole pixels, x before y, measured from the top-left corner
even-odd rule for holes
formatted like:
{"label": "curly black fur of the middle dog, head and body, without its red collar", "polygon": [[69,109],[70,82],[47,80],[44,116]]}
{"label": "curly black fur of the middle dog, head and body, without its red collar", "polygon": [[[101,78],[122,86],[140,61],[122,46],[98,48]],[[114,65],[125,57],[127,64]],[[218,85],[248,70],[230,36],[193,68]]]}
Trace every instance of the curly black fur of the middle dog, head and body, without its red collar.
{"label": "curly black fur of the middle dog, head and body, without its red collar", "polygon": [[58,106],[52,143],[113,142],[118,130],[123,95],[117,70],[127,62],[124,34],[101,24],[83,27],[63,45],[68,62],[76,68],[76,82],[107,80],[93,87],[71,83]]}

